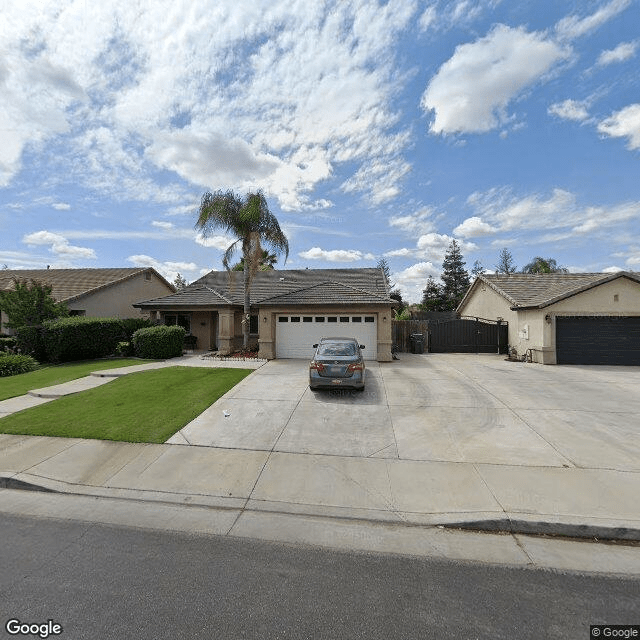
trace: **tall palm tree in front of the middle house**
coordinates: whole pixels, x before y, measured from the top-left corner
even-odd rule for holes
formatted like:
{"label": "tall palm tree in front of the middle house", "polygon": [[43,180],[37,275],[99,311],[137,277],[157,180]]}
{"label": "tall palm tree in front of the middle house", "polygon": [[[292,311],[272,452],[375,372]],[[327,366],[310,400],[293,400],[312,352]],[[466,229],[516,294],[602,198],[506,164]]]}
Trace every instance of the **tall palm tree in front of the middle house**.
{"label": "tall palm tree in front of the middle house", "polygon": [[249,318],[251,312],[251,280],[258,271],[262,257],[262,243],[269,246],[275,253],[284,252],[286,263],[289,257],[289,242],[278,224],[276,217],[269,211],[269,205],[262,191],[248,193],[244,198],[233,191],[207,191],[200,202],[198,221],[195,224],[203,237],[207,237],[214,230],[223,229],[237,238],[222,257],[222,265],[229,271],[231,277],[231,259],[242,246],[244,259],[244,318],[243,346],[249,345]]}

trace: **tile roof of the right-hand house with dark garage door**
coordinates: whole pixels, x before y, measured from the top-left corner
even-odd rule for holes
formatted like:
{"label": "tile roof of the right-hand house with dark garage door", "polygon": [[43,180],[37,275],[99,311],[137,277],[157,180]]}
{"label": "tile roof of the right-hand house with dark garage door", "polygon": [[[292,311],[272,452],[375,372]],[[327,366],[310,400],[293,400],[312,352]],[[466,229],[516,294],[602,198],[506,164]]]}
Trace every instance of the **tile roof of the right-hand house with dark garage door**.
{"label": "tile roof of the right-hand house with dark garage door", "polygon": [[486,283],[506,298],[512,309],[542,309],[565,298],[597,287],[616,278],[629,278],[640,283],[640,274],[617,273],[512,273],[478,276],[458,305],[460,312],[480,283]]}

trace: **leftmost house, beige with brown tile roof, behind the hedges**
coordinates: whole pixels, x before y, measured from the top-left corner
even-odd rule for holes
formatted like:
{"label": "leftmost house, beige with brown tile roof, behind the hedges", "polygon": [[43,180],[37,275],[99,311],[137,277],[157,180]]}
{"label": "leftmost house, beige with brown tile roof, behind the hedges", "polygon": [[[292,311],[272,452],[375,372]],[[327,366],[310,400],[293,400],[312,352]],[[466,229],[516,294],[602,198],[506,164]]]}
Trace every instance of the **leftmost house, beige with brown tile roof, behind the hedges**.
{"label": "leftmost house, beige with brown tile roof, behind the hedges", "polygon": [[[140,317],[144,312],[134,309],[141,298],[173,293],[176,289],[155,269],[2,269],[0,289],[13,289],[14,278],[37,280],[49,285],[57,302],[65,302],[71,315],[102,318]],[[0,315],[0,331],[6,314]]]}

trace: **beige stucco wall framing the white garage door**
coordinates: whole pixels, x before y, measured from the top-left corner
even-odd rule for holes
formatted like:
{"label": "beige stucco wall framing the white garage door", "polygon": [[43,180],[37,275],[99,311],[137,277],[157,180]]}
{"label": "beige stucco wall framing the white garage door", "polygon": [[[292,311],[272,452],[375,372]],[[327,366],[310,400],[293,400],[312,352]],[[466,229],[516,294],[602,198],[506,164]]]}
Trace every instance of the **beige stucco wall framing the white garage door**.
{"label": "beige stucco wall framing the white garage door", "polygon": [[261,358],[273,360],[276,357],[276,315],[281,313],[300,313],[302,314],[367,314],[376,316],[376,325],[378,329],[378,362],[391,361],[391,307],[380,306],[350,306],[345,308],[341,306],[336,309],[329,307],[318,308],[317,306],[301,306],[292,308],[282,307],[262,307],[259,311],[258,327],[259,327],[259,351]]}

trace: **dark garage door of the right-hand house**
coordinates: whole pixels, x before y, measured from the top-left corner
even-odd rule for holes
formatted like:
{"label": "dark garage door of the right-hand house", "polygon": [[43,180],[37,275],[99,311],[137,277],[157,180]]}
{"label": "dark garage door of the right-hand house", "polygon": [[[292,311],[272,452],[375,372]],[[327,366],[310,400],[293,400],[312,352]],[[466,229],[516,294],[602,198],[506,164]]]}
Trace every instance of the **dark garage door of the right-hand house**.
{"label": "dark garage door of the right-hand house", "polygon": [[558,364],[640,365],[640,317],[556,317]]}

